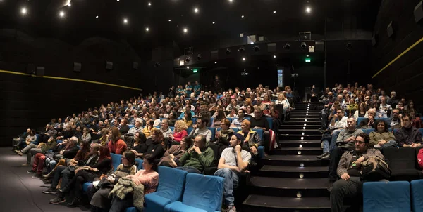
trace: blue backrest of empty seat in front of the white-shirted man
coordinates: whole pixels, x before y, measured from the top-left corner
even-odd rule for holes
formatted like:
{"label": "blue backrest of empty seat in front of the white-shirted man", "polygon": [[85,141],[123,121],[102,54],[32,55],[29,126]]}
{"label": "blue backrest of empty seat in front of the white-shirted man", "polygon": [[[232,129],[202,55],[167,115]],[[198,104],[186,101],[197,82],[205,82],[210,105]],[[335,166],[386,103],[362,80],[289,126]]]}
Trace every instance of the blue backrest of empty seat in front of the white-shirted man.
{"label": "blue backrest of empty seat in front of the white-shirted man", "polygon": [[223,178],[188,173],[182,203],[204,211],[221,211]]}

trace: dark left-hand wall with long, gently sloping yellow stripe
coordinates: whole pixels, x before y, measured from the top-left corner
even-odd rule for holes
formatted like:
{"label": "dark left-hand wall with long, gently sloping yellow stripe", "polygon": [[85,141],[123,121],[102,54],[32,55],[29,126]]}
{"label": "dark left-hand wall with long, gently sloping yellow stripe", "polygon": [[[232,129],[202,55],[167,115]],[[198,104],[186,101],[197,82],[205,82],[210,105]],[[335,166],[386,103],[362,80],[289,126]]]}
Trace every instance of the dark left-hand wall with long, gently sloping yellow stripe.
{"label": "dark left-hand wall with long, gently sloping yellow stripe", "polygon": [[[10,145],[11,138],[26,128],[45,126],[53,117],[63,118],[141,92],[167,90],[173,84],[173,72],[168,71],[172,62],[162,62],[155,69],[152,62],[142,58],[125,41],[92,37],[72,45],[58,39],[31,37],[15,29],[1,29],[1,70],[26,73],[28,64],[34,64],[45,67],[46,76],[100,81],[144,91],[0,73],[0,145]],[[114,62],[113,70],[106,70],[106,61]],[[137,70],[133,69],[133,61],[139,62]],[[73,62],[82,63],[80,73],[73,72]]]}

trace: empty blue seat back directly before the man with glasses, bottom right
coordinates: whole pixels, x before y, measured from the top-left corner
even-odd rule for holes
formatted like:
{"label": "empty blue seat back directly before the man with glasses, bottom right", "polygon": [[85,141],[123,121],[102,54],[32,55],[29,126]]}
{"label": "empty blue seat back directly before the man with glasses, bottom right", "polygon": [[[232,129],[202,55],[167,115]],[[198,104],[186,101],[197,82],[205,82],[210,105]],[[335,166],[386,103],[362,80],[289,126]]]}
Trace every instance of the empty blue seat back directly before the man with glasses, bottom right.
{"label": "empty blue seat back directly before the man with glasses, bottom right", "polygon": [[407,181],[363,184],[363,212],[410,210],[410,183]]}

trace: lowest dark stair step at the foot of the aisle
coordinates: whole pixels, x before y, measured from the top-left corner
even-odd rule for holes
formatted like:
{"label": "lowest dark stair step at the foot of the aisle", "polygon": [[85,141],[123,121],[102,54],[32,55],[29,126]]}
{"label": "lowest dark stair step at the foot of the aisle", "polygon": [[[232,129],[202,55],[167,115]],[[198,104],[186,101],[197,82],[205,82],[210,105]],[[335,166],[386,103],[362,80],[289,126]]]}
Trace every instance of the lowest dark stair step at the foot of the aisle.
{"label": "lowest dark stair step at the foot of the aisle", "polygon": [[331,211],[329,197],[272,197],[250,194],[243,202],[243,211]]}

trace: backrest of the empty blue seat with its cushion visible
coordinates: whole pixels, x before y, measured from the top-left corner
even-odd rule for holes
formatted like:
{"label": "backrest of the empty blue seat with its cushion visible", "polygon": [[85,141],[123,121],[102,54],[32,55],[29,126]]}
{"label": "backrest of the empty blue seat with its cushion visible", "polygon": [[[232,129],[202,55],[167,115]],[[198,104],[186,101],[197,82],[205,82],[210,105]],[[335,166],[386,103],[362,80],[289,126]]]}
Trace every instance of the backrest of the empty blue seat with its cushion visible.
{"label": "backrest of the empty blue seat with its cushion visible", "polygon": [[181,201],[187,172],[167,166],[159,166],[159,186],[156,194],[171,201]]}

